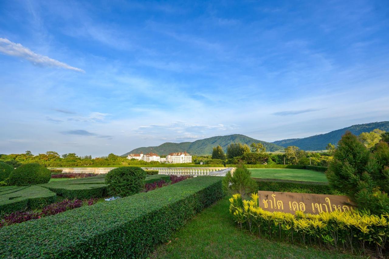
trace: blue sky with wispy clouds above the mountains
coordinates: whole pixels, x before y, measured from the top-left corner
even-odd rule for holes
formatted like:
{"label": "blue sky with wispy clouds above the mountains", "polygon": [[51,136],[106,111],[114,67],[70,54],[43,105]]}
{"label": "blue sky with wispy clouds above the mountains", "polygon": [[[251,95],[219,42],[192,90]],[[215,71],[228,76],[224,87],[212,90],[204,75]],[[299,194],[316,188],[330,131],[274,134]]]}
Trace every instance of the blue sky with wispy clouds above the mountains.
{"label": "blue sky with wispy clouds above the mountains", "polygon": [[1,1],[0,153],[389,119],[388,1]]}

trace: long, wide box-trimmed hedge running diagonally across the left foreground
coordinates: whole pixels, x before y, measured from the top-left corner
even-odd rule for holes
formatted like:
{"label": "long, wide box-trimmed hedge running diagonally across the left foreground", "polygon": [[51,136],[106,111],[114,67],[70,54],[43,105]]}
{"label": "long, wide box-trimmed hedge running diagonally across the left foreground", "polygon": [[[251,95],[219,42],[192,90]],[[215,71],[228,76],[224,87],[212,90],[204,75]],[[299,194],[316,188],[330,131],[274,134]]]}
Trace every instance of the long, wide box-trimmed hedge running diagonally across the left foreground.
{"label": "long, wide box-trimmed hedge running diagonally across the left foreground", "polygon": [[145,258],[197,212],[223,196],[202,176],[147,193],[5,226],[0,257]]}

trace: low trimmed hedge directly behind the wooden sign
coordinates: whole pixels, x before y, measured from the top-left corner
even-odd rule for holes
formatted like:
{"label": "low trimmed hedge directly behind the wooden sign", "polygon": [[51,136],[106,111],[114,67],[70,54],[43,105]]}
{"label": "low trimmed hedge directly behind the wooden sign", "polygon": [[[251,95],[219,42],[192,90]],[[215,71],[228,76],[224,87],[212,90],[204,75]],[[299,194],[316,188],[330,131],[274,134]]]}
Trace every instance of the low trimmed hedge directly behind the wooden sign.
{"label": "low trimmed hedge directly behind the wooden sign", "polygon": [[332,190],[328,184],[319,182],[258,178],[254,178],[254,180],[257,181],[259,191],[345,195],[339,191]]}

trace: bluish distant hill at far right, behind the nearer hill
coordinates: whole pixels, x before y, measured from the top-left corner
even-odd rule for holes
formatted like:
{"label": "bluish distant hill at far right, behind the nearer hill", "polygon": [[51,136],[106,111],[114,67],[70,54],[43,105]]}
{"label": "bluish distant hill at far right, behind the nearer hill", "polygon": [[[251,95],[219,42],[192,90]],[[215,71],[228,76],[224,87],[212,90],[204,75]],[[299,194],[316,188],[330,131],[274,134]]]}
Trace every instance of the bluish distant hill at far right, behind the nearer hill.
{"label": "bluish distant hill at far right, behind the nearer hill", "polygon": [[371,122],[365,124],[356,124],[347,128],[337,129],[329,133],[315,135],[307,138],[289,138],[277,140],[274,144],[282,147],[296,146],[303,150],[324,150],[328,143],[337,144],[342,135],[348,130],[354,135],[359,135],[362,132],[370,132],[373,129],[381,129],[389,131],[389,121]]}

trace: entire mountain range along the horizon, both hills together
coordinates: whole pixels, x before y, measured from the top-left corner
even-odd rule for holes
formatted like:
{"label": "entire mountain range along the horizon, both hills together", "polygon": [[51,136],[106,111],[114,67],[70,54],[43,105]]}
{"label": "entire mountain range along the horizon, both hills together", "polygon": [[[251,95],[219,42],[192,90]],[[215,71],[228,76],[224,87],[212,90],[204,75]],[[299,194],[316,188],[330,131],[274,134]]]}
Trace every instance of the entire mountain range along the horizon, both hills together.
{"label": "entire mountain range along the horizon, both hills together", "polygon": [[289,138],[285,140],[277,140],[272,143],[265,142],[262,140],[256,140],[254,138],[250,138],[241,134],[204,138],[196,140],[194,142],[166,142],[156,147],[138,147],[137,149],[133,149],[130,152],[123,154],[122,156],[127,156],[128,154],[133,153],[139,154],[140,152],[143,152],[144,154],[154,152],[159,155],[167,155],[172,152],[184,151],[193,155],[208,155],[212,154],[213,147],[221,145],[224,151],[226,151],[227,145],[234,142],[240,142],[247,145],[250,145],[253,142],[260,142],[266,147],[266,151],[270,152],[284,150],[284,148],[287,146],[297,146],[300,149],[306,151],[317,151],[326,149],[328,143],[337,144],[346,131],[351,131],[351,133],[353,133],[354,135],[359,135],[362,132],[370,132],[373,129],[389,131],[389,121],[356,124],[347,128],[337,129],[325,134],[319,134],[306,138]]}

